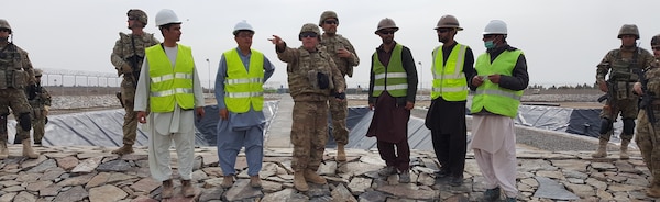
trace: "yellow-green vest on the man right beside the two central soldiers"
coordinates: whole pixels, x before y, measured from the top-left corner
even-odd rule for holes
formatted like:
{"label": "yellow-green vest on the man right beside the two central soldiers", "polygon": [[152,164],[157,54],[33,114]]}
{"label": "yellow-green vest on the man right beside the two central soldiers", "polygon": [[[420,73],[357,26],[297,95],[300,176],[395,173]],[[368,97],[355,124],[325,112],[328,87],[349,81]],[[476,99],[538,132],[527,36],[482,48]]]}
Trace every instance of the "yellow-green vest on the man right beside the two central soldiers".
{"label": "yellow-green vest on the man right beside the two central soldiers", "polygon": [[380,97],[384,90],[387,90],[392,97],[405,97],[408,93],[408,75],[402,61],[403,47],[400,44],[394,46],[387,67],[378,59],[378,52],[374,53],[374,67],[372,69],[374,72],[373,97]]}

